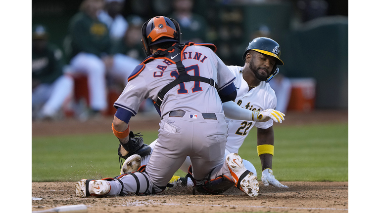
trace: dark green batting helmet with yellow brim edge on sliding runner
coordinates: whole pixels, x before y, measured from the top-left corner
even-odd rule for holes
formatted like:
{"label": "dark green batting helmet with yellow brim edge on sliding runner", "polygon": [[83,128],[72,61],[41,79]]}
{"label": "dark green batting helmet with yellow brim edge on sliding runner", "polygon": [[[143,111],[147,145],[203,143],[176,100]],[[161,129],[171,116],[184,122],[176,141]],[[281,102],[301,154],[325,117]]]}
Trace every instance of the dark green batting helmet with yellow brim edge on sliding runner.
{"label": "dark green batting helmet with yellow brim edge on sliding runner", "polygon": [[277,65],[284,65],[284,62],[281,61],[281,47],[280,45],[273,39],[267,37],[257,37],[249,42],[245,52],[243,54],[243,61],[245,61],[245,56],[249,52],[249,50],[257,51],[264,55],[273,56],[276,58],[276,65],[273,67],[273,70],[267,80],[265,82],[269,82],[274,76],[279,73],[279,69]]}

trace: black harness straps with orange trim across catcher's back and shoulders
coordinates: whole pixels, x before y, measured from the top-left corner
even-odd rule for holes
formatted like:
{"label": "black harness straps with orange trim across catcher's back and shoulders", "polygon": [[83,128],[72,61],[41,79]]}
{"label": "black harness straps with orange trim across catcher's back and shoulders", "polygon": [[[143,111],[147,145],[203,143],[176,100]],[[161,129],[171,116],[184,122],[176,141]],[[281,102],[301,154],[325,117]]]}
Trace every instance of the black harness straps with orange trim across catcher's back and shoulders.
{"label": "black harness straps with orange trim across catcher's back and shoulders", "polygon": [[168,49],[166,49],[164,51],[158,50],[156,53],[154,53],[153,55],[151,55],[149,58],[145,59],[142,62],[142,64],[147,64],[147,63],[149,63],[150,61],[152,61],[154,59],[165,59],[165,60],[168,60],[169,62],[171,62],[173,64],[176,64],[176,66],[177,66],[177,70],[179,72],[179,76],[175,80],[173,80],[171,83],[169,83],[168,85],[166,85],[164,88],[162,88],[158,92],[158,98],[154,102],[154,104],[158,108],[160,108],[160,106],[162,104],[162,100],[164,99],[165,94],[170,89],[172,89],[176,85],[178,85],[180,83],[183,83],[183,82],[201,81],[201,82],[208,83],[208,84],[214,86],[216,89],[218,89],[218,85],[215,83],[214,79],[212,79],[212,78],[206,78],[206,77],[202,77],[202,76],[193,76],[193,75],[189,75],[187,73],[186,68],[182,64],[183,52],[184,52],[183,50],[185,50],[186,47],[191,46],[191,45],[207,46],[210,49],[212,49],[214,52],[216,51],[216,47],[215,47],[214,44],[203,44],[203,43],[197,44],[197,43],[194,43],[194,42],[187,42],[185,44],[178,44],[178,43],[176,43],[175,45],[169,47]]}

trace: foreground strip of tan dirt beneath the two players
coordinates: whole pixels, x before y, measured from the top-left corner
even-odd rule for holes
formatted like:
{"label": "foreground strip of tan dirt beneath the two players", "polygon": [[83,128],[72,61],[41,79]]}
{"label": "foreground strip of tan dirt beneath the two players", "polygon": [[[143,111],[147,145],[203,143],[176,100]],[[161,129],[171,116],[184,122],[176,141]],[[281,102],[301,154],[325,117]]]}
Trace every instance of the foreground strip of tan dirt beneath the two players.
{"label": "foreground strip of tan dirt beneath the two players", "polygon": [[192,195],[190,188],[179,187],[153,196],[79,198],[74,182],[32,182],[32,198],[41,199],[32,200],[32,211],[85,204],[88,213],[348,212],[348,182],[283,183],[289,189],[260,184],[255,198],[235,187],[223,195]]}

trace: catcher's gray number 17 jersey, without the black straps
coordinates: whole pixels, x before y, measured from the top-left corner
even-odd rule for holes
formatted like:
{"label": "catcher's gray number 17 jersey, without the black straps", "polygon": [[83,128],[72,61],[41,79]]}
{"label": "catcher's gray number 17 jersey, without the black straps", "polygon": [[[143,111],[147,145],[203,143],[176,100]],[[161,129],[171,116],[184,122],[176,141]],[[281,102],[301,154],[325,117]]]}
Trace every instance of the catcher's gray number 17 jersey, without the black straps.
{"label": "catcher's gray number 17 jersey, without the black straps", "polygon": [[[221,59],[210,48],[204,46],[187,47],[183,52],[182,63],[190,75],[213,78],[219,90],[235,79]],[[134,75],[137,76],[127,84],[115,106],[127,109],[136,115],[144,99],[157,100],[160,89],[173,81],[179,73],[175,64],[168,60],[156,59],[149,62],[139,73],[132,73],[132,76]],[[177,109],[223,113],[217,90],[210,84],[194,81],[182,83],[165,95],[161,105],[161,118]]]}

